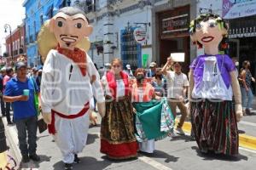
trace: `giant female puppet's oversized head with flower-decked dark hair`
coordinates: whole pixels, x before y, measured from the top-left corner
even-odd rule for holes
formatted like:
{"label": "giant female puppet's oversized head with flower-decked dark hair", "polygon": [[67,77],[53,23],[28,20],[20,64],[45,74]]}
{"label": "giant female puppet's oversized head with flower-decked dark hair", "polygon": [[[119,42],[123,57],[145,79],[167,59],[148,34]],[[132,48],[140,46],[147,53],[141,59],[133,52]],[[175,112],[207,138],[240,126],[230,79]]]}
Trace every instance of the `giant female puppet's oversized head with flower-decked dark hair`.
{"label": "giant female puppet's oversized head with flower-decked dark hair", "polygon": [[217,14],[201,14],[189,26],[191,40],[199,48],[218,48],[220,42],[225,48],[227,31],[228,26]]}

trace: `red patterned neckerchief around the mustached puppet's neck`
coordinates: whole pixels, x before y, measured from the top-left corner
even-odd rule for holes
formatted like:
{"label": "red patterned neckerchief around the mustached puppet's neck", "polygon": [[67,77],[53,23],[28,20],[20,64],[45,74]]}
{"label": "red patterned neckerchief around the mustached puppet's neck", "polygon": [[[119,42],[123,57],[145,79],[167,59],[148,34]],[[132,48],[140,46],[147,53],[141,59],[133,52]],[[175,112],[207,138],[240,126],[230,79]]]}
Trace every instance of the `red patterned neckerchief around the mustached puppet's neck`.
{"label": "red patterned neckerchief around the mustached puppet's neck", "polygon": [[86,53],[79,49],[79,48],[74,48],[74,50],[70,50],[67,48],[60,48],[59,46],[57,47],[57,51],[60,54],[65,55],[68,59],[72,59],[73,62],[77,65],[79,65],[79,69],[85,77],[86,75]]}

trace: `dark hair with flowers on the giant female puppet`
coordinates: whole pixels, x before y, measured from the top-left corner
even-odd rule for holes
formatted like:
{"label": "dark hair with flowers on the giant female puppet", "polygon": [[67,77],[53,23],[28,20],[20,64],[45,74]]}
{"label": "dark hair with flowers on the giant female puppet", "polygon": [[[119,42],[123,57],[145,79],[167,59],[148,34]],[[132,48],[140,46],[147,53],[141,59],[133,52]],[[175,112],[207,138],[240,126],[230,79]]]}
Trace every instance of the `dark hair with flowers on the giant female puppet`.
{"label": "dark hair with flowers on the giant female puppet", "polygon": [[[206,22],[207,20],[210,20],[210,19],[215,19],[216,22],[218,23],[218,26],[219,26],[220,29],[228,30],[227,23],[222,18],[220,18],[220,16],[218,14],[201,14],[195,20],[192,20],[190,22],[189,34],[190,35],[195,34],[196,26],[197,26],[197,24],[200,24],[201,21]],[[224,50],[225,48],[227,48],[227,46],[228,46],[227,41],[228,41],[228,35],[223,35],[223,39],[220,42],[221,43],[221,47],[220,47],[221,49],[220,50]],[[202,48],[201,42],[196,41],[196,42],[193,42],[193,43],[197,44],[198,48]]]}

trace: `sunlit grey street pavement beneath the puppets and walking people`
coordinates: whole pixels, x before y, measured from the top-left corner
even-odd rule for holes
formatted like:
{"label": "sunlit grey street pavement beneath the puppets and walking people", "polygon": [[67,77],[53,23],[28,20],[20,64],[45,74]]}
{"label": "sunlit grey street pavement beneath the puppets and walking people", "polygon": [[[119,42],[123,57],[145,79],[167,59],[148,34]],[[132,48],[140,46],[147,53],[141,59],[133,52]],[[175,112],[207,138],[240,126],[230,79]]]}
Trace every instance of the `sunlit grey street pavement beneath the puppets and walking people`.
{"label": "sunlit grey street pavement beneath the puppets and walking people", "polygon": [[[253,108],[256,108],[256,98],[253,101]],[[6,120],[3,119],[5,124]],[[99,120],[100,122],[100,120]],[[252,116],[244,116],[238,123],[240,133],[246,133],[256,137],[255,131],[256,111]],[[6,126],[9,139],[10,153],[20,161],[20,150],[15,126]],[[204,155],[199,152],[195,141],[191,141],[189,134],[177,136],[177,138],[166,138],[156,142],[154,154],[140,153],[137,159],[127,161],[109,160],[107,156],[100,153],[100,125],[90,127],[87,145],[84,151],[79,154],[81,163],[74,165],[75,170],[253,170],[256,167],[256,150],[240,148],[238,156],[216,156],[214,154]],[[22,169],[62,170],[61,151],[53,141],[48,132],[38,133],[38,155],[41,161],[30,161],[27,164],[20,164]]]}

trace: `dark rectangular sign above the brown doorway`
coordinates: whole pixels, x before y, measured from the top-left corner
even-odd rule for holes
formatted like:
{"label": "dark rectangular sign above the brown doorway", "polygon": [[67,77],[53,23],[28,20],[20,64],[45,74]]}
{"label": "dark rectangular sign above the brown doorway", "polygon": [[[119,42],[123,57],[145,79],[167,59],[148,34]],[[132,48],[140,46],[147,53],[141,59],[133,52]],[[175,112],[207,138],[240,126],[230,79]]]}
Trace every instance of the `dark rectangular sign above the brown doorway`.
{"label": "dark rectangular sign above the brown doorway", "polygon": [[162,33],[174,33],[177,31],[188,31],[189,14],[182,14],[162,20]]}

